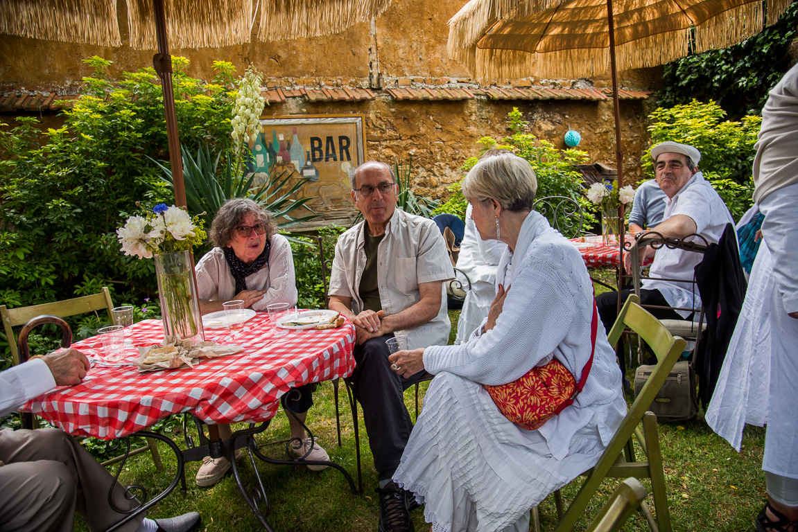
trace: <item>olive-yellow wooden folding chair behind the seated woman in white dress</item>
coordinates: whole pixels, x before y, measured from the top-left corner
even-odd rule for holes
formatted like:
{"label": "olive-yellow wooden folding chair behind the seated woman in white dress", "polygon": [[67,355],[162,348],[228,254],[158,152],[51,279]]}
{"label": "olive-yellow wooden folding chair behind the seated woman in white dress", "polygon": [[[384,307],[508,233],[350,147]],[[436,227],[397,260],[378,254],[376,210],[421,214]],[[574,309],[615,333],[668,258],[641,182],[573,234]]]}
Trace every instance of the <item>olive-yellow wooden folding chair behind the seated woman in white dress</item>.
{"label": "olive-yellow wooden folding chair behind the seated woman in white dress", "polygon": [[[681,356],[686,342],[681,338],[671,336],[657,318],[638,305],[638,301],[637,296],[630,294],[607,337],[610,345],[614,345],[621,337],[623,329],[629,327],[635,333],[638,333],[642,340],[646,341],[654,351],[657,357],[657,365],[638,394],[637,399],[634,400],[629,411],[626,412],[626,416],[618,430],[615,431],[610,443],[604,449],[599,462],[590,471],[585,472],[584,475],[587,475],[587,478],[571,502],[571,506],[568,507],[564,515],[560,516],[559,524],[555,529],[556,532],[565,532],[573,529],[606,477],[651,479],[654,508],[657,511],[656,522],[645,502],[641,504],[643,514],[646,515],[651,530],[654,530],[654,532],[658,532],[658,530],[671,532],[672,530],[670,512],[668,511],[665,474],[662,470],[662,453],[659,447],[657,416],[654,416],[652,412],[646,411],[654,400],[654,396],[659,392],[659,388],[662,387],[662,383],[665,382],[668,373]],[[642,428],[638,427],[641,421]],[[638,460],[638,457],[635,456],[633,437],[638,439],[642,452],[646,455],[646,460]],[[559,490],[555,491],[555,499],[559,499]],[[559,510],[558,505],[558,513]],[[533,519],[536,526],[535,530],[539,530],[537,508],[533,511]]]}

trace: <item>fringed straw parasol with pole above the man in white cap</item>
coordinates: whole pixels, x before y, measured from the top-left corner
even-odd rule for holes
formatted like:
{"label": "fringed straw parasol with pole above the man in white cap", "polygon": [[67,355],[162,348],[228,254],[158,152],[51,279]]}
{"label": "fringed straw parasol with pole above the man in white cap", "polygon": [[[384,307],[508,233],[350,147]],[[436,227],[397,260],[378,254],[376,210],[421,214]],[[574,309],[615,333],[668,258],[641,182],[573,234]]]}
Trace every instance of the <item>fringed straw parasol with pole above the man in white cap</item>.
{"label": "fringed straw parasol with pole above the man in white cap", "polygon": [[[736,44],[792,0],[471,0],[449,20],[448,53],[480,80],[592,77],[610,70],[618,187],[623,186],[618,70]],[[623,205],[618,207],[623,219]],[[623,225],[618,245],[623,246]],[[621,278],[618,279],[621,282]],[[618,308],[620,308],[618,286]]]}

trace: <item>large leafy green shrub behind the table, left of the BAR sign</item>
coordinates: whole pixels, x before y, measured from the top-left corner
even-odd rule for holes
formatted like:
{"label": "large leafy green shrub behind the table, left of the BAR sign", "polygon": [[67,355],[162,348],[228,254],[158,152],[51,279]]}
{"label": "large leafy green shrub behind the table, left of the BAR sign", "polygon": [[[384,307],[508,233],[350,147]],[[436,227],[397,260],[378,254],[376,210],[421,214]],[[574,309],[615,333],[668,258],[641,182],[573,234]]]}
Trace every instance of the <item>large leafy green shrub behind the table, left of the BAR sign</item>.
{"label": "large leafy green shrub behind the table, left of the BAR sign", "polygon": [[[231,65],[217,63],[218,79],[204,83],[184,73],[187,60],[172,60],[181,140],[229,148]],[[98,286],[116,301],[155,298],[152,261],[123,256],[115,231],[137,202],[172,203],[150,160],[167,158],[160,81],[146,68],[112,82],[110,61],[87,62],[95,73],[62,128],[42,135],[38,120],[18,117],[0,131],[0,302],[10,307]]]}

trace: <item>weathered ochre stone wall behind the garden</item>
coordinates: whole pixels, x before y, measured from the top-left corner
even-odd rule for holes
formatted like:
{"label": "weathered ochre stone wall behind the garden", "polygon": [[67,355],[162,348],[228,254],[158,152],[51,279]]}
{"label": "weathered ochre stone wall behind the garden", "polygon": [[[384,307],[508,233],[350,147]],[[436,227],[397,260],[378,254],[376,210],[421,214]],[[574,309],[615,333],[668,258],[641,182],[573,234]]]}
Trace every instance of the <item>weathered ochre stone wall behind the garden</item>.
{"label": "weathered ochre stone wall behind the garden", "polygon": [[[124,2],[118,2],[123,41],[126,39]],[[374,99],[360,102],[312,102],[290,97],[265,110],[267,116],[288,114],[358,113],[366,116],[366,157],[392,160],[413,156],[417,193],[440,198],[444,185],[460,179],[460,166],[479,153],[482,136],[499,138],[508,132],[507,113],[518,107],[531,123],[531,133],[564,148],[569,126],[582,135],[580,149],[590,162],[615,166],[612,100],[536,99],[493,100],[476,96],[466,100],[398,100],[388,89],[462,87],[479,89],[464,66],[446,56],[447,21],[462,0],[395,0],[372,24],[361,23],[337,35],[301,40],[253,42],[219,49],[172,49],[188,57],[188,73],[210,79],[212,61],[233,62],[239,73],[253,64],[267,76],[267,86],[314,88],[348,86],[371,89]],[[257,26],[257,24],[256,24]],[[253,29],[253,35],[257,27]],[[152,52],[128,45],[102,48],[91,45],[38,41],[0,35],[0,93],[77,93],[81,77],[91,72],[81,63],[99,55],[114,61],[111,75],[152,65]],[[627,89],[655,89],[659,70],[621,73]],[[606,78],[592,81],[500,81],[497,85],[606,89]],[[421,93],[421,91],[419,91]],[[626,179],[642,178],[639,160],[646,147],[646,115],[650,103],[622,100],[621,122]],[[2,115],[0,115],[2,116]],[[8,116],[2,116],[8,122]]]}

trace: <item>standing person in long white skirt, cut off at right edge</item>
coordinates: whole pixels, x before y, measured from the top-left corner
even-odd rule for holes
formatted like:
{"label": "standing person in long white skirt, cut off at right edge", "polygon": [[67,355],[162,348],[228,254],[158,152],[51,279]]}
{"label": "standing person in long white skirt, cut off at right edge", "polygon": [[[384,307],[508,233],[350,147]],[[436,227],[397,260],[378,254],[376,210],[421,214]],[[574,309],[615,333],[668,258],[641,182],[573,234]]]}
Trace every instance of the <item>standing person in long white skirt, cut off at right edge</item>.
{"label": "standing person in long white skirt, cut off at right edge", "polygon": [[798,530],[798,65],[771,90],[762,109],[753,179],[756,185],[753,199],[764,214],[764,242],[753,263],[751,284],[721,370],[723,386],[719,380],[706,420],[738,450],[745,422],[768,424],[762,460],[768,503],[757,515],[755,525],[758,532],[795,532]]}

